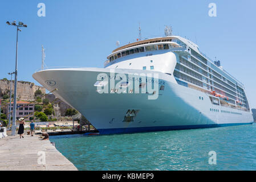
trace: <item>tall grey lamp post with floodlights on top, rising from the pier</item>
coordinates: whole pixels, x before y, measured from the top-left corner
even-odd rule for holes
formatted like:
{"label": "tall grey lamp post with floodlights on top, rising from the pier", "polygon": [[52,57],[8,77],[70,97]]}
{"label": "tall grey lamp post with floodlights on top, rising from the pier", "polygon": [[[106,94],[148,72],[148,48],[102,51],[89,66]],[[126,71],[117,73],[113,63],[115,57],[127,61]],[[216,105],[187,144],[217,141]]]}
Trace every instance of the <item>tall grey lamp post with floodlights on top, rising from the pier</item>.
{"label": "tall grey lamp post with floodlights on top, rising from the pier", "polygon": [[11,126],[11,135],[16,135],[16,109],[17,109],[17,73],[18,73],[18,32],[21,31],[19,27],[27,27],[26,24],[16,21],[13,23],[6,22],[6,24],[17,27],[17,38],[16,38],[16,60],[15,60],[15,80],[14,80],[14,98],[13,98],[13,125]]}

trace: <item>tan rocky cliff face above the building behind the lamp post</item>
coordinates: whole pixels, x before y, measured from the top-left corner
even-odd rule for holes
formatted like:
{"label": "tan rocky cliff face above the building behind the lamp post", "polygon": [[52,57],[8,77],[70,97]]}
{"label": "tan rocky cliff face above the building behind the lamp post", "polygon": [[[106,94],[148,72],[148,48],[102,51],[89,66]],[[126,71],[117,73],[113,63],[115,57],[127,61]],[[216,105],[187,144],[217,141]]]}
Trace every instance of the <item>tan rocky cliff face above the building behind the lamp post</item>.
{"label": "tan rocky cliff face above the building behind the lamp post", "polygon": [[[0,80],[0,98],[3,98],[6,94],[9,95],[11,81],[7,79]],[[43,94],[46,93],[46,89],[42,86],[37,86],[32,82],[18,81],[17,84],[17,99],[22,101],[34,101],[35,91],[41,90]],[[12,86],[12,94],[14,93],[14,81]]]}

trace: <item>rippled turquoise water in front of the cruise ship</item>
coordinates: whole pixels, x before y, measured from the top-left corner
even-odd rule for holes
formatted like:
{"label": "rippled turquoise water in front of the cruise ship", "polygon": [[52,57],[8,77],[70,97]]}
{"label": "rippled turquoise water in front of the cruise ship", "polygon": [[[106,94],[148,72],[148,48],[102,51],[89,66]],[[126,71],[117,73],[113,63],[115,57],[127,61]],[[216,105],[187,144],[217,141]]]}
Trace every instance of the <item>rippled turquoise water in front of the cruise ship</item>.
{"label": "rippled turquoise water in front of the cruise ship", "polygon": [[50,140],[79,170],[256,170],[255,131],[254,124]]}

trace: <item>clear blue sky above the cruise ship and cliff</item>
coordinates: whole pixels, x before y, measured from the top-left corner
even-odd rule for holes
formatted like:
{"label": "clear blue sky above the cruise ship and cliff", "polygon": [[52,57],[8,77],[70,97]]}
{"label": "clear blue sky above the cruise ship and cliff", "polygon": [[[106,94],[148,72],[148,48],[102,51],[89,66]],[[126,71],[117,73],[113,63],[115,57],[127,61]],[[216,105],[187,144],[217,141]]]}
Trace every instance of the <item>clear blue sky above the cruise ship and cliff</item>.
{"label": "clear blue sky above the cruise ship and cliff", "polygon": [[[217,17],[208,15],[216,3]],[[38,3],[46,16],[37,15]],[[256,1],[84,1],[40,0],[0,2],[0,78],[15,68],[15,28],[7,20],[28,25],[19,33],[18,80],[38,84],[32,73],[40,68],[41,46],[48,67],[103,67],[120,44],[135,42],[141,23],[143,38],[164,36],[164,26],[186,36],[231,75],[243,82],[256,108]]]}

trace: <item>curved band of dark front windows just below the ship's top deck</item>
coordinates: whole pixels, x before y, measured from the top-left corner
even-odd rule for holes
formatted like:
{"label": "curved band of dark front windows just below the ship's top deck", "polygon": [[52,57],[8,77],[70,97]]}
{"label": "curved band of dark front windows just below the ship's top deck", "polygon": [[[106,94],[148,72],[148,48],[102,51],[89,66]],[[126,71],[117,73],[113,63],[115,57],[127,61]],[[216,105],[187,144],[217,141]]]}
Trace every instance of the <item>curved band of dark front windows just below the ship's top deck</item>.
{"label": "curved band of dark front windows just below the ship's top deck", "polygon": [[113,60],[118,59],[120,57],[132,55],[133,53],[140,53],[140,52],[145,52],[145,51],[164,50],[164,49],[169,49],[170,47],[172,47],[172,46],[169,46],[169,44],[159,44],[159,45],[133,48],[133,49],[129,49],[127,51],[121,51],[119,53],[116,53],[115,55],[109,57],[109,61],[113,61]]}

